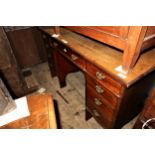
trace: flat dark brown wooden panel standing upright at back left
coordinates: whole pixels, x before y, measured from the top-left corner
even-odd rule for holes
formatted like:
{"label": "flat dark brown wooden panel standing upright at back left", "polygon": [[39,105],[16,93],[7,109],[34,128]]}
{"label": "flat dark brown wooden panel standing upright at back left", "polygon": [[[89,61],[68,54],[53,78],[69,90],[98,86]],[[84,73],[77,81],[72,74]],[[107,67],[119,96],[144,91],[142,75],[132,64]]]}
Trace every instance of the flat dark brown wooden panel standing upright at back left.
{"label": "flat dark brown wooden panel standing upright at back left", "polygon": [[43,39],[36,27],[19,27],[7,30],[6,34],[21,69],[47,61]]}

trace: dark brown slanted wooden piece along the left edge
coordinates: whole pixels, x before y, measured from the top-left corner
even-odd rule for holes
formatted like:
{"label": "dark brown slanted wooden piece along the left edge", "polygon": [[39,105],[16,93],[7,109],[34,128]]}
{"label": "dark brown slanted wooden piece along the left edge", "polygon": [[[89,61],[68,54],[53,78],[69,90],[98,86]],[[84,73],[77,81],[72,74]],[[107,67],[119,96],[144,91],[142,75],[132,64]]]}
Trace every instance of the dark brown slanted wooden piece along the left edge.
{"label": "dark brown slanted wooden piece along the left edge", "polygon": [[22,96],[26,93],[24,77],[2,27],[0,27],[0,71],[14,95]]}

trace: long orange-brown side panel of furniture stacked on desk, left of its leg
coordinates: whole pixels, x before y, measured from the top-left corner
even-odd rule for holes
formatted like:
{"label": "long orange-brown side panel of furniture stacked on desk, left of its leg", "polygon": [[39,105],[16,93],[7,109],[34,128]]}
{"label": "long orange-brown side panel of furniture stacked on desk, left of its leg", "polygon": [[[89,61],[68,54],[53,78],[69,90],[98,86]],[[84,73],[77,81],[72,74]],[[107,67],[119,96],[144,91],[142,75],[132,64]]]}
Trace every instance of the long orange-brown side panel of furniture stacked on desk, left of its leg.
{"label": "long orange-brown side panel of furniture stacked on desk, left of its leg", "polygon": [[114,28],[110,29],[108,28],[108,26],[106,28],[104,28],[104,26],[103,27],[101,26],[101,28],[100,27],[93,28],[91,26],[65,26],[65,27],[74,32],[83,34],[85,36],[88,36],[90,38],[101,41],[105,44],[114,46],[119,49],[124,49],[126,46],[126,40],[123,37],[127,35],[128,30],[125,30],[126,31],[125,32],[124,30],[116,28],[117,31],[115,32],[115,34],[112,34],[112,32],[114,32]]}

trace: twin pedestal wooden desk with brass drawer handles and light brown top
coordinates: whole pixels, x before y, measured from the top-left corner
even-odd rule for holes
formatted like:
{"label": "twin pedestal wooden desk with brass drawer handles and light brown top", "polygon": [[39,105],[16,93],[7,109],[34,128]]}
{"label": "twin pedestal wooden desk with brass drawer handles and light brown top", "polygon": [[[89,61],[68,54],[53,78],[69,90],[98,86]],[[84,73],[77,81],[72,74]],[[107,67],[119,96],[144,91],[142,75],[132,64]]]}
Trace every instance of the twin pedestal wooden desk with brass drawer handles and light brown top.
{"label": "twin pedestal wooden desk with brass drawer handles and light brown top", "polygon": [[86,79],[86,120],[103,128],[121,128],[144,106],[155,82],[155,48],[144,52],[135,67],[123,72],[122,52],[65,28],[39,28],[48,52],[52,76],[65,86],[68,73],[81,70]]}

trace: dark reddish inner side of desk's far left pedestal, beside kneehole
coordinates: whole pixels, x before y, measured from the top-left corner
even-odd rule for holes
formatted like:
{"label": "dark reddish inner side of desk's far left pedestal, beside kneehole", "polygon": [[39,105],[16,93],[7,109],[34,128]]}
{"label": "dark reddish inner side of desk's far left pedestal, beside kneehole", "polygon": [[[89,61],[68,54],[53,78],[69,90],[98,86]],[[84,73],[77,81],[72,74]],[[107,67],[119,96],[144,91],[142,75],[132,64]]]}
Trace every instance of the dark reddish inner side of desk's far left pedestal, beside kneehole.
{"label": "dark reddish inner side of desk's far left pedestal, beside kneehole", "polygon": [[66,75],[73,71],[77,71],[77,67],[72,64],[67,58],[63,57],[59,51],[55,52],[55,65],[56,65],[56,72],[60,82],[60,87],[66,86]]}

